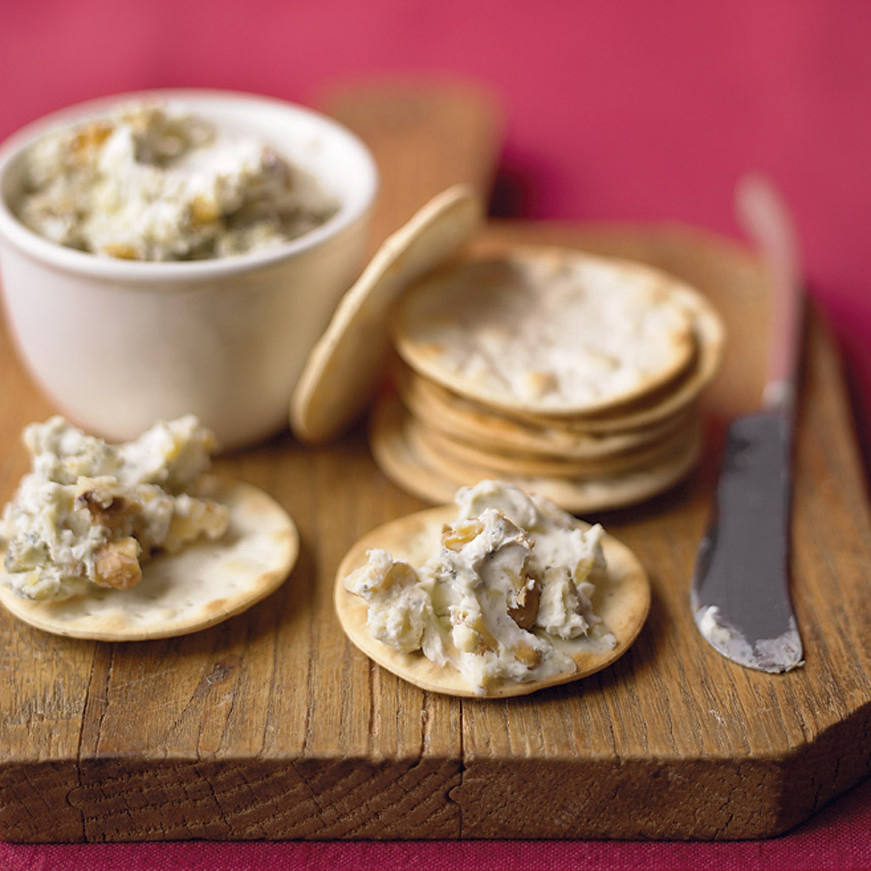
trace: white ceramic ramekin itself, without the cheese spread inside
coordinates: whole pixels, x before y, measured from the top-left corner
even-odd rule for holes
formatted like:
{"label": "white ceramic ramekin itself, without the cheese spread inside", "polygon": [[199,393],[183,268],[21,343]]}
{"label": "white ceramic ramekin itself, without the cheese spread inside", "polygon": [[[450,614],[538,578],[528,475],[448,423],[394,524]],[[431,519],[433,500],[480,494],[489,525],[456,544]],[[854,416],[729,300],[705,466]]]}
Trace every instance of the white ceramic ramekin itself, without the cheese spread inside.
{"label": "white ceramic ramekin itself, without the cheese spread inside", "polygon": [[[59,125],[121,103],[165,98],[266,142],[313,173],[338,212],[269,251],[143,263],[65,248],[10,209],[23,153]],[[378,173],[366,146],[331,119],[289,103],[220,91],[149,91],[73,106],[0,147],[0,274],[22,360],[58,410],[110,439],[192,412],[225,448],[287,425],[306,355],[368,245]]]}

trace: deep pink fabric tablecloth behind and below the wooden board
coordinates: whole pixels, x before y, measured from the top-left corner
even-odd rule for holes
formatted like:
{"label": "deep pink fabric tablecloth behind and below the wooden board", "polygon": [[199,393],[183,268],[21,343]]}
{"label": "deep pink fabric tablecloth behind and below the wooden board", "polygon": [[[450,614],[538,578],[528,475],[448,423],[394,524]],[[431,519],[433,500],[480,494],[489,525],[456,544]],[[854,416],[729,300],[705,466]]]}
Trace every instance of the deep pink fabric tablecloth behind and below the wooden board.
{"label": "deep pink fabric tablecloth behind and below the wooden board", "polygon": [[[865,0],[30,0],[0,3],[0,139],[93,96],[160,86],[313,103],[355,76],[449,74],[509,113],[501,206],[536,219],[737,233],[748,168],[793,206],[811,293],[871,420],[871,3]],[[0,868],[871,868],[871,789],[743,844],[0,845]]]}

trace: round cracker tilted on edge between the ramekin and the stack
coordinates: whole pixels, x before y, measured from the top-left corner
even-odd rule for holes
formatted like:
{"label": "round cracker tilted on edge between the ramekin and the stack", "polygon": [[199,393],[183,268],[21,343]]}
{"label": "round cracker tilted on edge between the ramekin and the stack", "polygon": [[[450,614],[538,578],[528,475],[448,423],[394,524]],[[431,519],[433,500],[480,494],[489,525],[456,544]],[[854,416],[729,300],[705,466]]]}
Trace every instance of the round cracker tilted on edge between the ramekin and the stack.
{"label": "round cracker tilted on edge between the ramekin and the stack", "polygon": [[405,287],[453,256],[483,221],[474,190],[454,185],[430,200],[378,249],[342,297],[294,390],[290,425],[315,444],[339,433],[363,410],[390,348],[387,320]]}

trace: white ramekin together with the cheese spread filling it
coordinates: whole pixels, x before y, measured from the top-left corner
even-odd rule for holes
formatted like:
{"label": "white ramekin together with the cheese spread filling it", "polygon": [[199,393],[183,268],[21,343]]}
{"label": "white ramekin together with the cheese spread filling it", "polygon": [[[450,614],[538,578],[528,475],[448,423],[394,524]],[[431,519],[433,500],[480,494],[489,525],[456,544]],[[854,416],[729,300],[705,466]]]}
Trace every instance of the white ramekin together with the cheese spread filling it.
{"label": "white ramekin together with the cheese spread filling it", "polygon": [[0,146],[0,270],[21,358],[123,441],[192,413],[233,449],[287,426],[363,265],[378,187],[330,118],[221,91],[75,106]]}

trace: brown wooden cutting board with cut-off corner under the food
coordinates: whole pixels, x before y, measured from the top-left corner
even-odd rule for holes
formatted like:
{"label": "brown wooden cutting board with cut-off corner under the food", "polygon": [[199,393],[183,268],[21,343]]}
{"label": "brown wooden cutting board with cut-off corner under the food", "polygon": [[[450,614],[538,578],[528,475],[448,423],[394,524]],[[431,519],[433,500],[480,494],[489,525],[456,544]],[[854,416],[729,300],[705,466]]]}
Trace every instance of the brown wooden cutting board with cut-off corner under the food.
{"label": "brown wooden cutting board with cut-off corner under the food", "polygon": [[[356,90],[328,108],[383,172],[377,238],[461,179],[491,182],[500,119],[456,86]],[[219,465],[281,501],[302,536],[251,611],[164,641],[56,638],[0,614],[0,838],[747,838],[785,831],[871,767],[871,564],[864,476],[839,357],[812,315],[796,447],[793,593],[807,663],[744,670],[696,633],[689,578],[725,423],[761,386],[765,276],[745,250],[677,227],[494,223],[476,243],[637,257],[695,282],[730,344],[684,484],[599,519],[650,572],[630,652],[575,684],[504,701],[421,692],[371,664],[333,615],[333,574],[381,522],[422,507],[377,470],[361,426],[289,435]],[[0,341],[0,499],[18,433],[52,409]]]}

